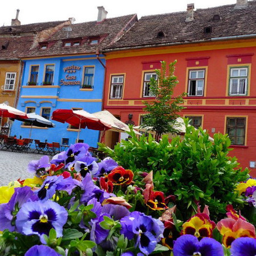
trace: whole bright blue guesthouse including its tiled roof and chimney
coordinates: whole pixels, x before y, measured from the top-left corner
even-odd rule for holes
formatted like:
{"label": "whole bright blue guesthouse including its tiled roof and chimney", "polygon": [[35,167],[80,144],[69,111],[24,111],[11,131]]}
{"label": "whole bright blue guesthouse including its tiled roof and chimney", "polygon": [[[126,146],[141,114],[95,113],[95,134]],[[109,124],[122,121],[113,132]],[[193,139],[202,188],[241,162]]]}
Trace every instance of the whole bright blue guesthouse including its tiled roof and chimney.
{"label": "whole bright blue guesthouse including its tiled roof and chimney", "polygon": [[[135,22],[137,15],[106,19],[98,7],[98,20],[71,24],[56,30],[47,41],[38,42],[22,57],[23,76],[19,110],[50,119],[56,109],[102,110],[105,56],[102,49],[116,42]],[[77,127],[55,122],[54,128],[33,127],[31,138],[40,141],[75,143]],[[28,138],[31,126],[15,121],[11,135]],[[82,129],[80,139],[96,147],[99,131]]]}

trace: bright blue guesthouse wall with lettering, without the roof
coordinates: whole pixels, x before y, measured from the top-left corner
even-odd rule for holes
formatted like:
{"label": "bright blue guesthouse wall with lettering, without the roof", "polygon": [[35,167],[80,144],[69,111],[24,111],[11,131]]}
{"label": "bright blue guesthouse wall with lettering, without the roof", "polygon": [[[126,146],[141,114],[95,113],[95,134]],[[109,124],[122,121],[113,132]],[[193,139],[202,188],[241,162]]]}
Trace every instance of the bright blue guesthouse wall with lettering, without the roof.
{"label": "bright blue guesthouse wall with lettering, without the roof", "polygon": [[[103,55],[102,63],[105,63]],[[27,59],[24,61],[18,109],[50,119],[56,109],[84,109],[89,113],[102,109],[104,67],[95,55]],[[32,139],[75,143],[77,127],[54,122],[54,128],[33,127]],[[12,133],[28,138],[31,126],[15,121]],[[98,131],[83,129],[80,138],[97,146]]]}

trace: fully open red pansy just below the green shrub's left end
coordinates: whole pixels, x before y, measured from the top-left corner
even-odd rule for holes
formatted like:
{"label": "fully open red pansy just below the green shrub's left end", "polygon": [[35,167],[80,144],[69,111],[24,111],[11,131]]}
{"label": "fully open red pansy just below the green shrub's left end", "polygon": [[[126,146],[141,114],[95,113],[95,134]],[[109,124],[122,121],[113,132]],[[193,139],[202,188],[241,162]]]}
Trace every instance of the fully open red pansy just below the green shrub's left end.
{"label": "fully open red pansy just below the green shrub's left end", "polygon": [[133,172],[118,166],[110,172],[108,180],[112,181],[113,185],[130,184],[133,180]]}

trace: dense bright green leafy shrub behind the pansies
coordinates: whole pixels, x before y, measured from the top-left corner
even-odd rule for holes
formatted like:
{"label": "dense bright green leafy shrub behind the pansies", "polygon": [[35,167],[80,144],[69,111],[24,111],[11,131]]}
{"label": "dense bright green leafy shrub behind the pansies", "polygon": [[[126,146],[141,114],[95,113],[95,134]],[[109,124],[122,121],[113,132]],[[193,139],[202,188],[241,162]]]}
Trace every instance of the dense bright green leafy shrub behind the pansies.
{"label": "dense bright green leafy shrub behind the pansies", "polygon": [[202,207],[209,206],[212,218],[217,215],[220,218],[226,205],[242,206],[242,197],[234,189],[238,182],[249,177],[249,170],[242,171],[237,159],[228,156],[231,150],[228,135],[214,134],[212,143],[206,131],[188,126],[187,119],[185,123],[183,141],[177,136],[169,142],[163,136],[158,143],[151,135],[138,139],[131,132],[130,141],[122,141],[114,150],[100,143],[100,150],[124,168],[133,170],[135,176],[152,170],[155,191],[175,195],[184,220],[196,212],[196,201]]}

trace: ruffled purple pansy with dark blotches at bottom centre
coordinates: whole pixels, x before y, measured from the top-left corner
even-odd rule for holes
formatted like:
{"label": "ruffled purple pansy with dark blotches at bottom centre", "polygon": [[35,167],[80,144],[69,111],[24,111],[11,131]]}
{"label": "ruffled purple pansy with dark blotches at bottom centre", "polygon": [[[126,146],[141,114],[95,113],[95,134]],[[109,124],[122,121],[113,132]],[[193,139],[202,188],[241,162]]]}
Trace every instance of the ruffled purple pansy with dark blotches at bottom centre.
{"label": "ruffled purple pansy with dark blotches at bottom centre", "polygon": [[142,253],[148,255],[154,251],[156,243],[163,237],[162,222],[146,216],[141,212],[132,212],[120,220],[121,234],[129,240],[135,237],[135,246],[139,246]]}

